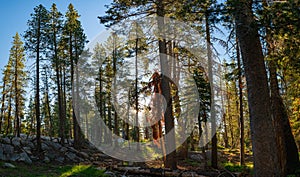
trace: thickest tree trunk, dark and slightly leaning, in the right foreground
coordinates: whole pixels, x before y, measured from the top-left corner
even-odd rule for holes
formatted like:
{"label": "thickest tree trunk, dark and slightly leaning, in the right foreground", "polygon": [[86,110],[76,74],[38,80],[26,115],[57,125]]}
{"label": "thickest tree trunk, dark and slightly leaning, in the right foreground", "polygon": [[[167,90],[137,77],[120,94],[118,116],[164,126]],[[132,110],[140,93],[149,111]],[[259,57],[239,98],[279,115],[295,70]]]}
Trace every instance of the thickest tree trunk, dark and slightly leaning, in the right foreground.
{"label": "thickest tree trunk, dark and slightly leaning, in the right foreground", "polygon": [[268,80],[258,30],[252,12],[252,1],[239,0],[235,6],[236,32],[245,69],[254,176],[282,176],[278,163]]}

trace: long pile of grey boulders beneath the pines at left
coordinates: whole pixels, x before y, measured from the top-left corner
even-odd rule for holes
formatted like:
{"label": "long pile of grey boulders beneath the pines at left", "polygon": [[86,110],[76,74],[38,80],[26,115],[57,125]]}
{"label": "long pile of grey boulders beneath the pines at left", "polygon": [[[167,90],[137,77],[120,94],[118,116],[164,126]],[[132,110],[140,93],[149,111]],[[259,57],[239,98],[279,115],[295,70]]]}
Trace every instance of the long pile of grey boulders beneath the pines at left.
{"label": "long pile of grey boulders beneath the pines at left", "polygon": [[52,141],[50,139],[51,138],[43,137],[42,150],[44,158],[40,159],[35,156],[36,154],[34,153],[36,148],[35,136],[21,135],[21,137],[0,137],[0,160],[24,162],[27,164],[32,164],[36,161],[44,163],[50,163],[52,161],[64,163],[102,160],[101,157],[95,156],[99,151],[91,149],[93,148],[92,144],[88,141],[84,142],[85,148],[78,151],[72,146],[73,140],[68,140],[69,143],[61,145],[59,138],[52,139]]}

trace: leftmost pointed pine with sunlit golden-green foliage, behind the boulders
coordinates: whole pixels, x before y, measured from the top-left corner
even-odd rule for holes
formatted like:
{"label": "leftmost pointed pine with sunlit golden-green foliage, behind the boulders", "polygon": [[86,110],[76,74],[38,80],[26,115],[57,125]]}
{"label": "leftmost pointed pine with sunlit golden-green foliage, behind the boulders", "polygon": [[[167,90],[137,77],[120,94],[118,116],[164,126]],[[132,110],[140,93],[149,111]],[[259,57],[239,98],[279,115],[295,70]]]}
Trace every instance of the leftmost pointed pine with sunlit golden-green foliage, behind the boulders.
{"label": "leftmost pointed pine with sunlit golden-green foliage, behind the boulders", "polygon": [[[2,103],[1,103],[1,125],[0,132],[5,130],[5,134],[12,132],[12,122],[16,123],[16,131],[19,135],[21,131],[20,120],[24,118],[25,94],[27,74],[25,71],[25,52],[23,42],[18,33],[13,37],[12,47],[8,64],[5,67],[2,86]],[[4,129],[3,129],[4,128]]]}

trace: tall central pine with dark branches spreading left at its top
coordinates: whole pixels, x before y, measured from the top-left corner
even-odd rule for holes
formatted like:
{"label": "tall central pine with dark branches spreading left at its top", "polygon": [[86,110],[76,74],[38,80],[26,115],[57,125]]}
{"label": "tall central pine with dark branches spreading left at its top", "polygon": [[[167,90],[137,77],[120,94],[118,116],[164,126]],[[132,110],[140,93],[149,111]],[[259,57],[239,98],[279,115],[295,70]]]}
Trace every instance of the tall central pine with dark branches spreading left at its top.
{"label": "tall central pine with dark branches spreading left at its top", "polygon": [[[173,2],[169,1],[114,1],[109,9],[107,10],[107,15],[103,17],[99,17],[101,23],[105,23],[108,26],[118,23],[124,19],[128,19],[132,16],[142,16],[142,15],[151,15],[156,14],[157,18],[157,25],[158,31],[162,32],[162,28],[164,26],[164,17],[166,16],[166,11],[168,7],[172,6]],[[136,8],[135,11],[131,11],[131,8]],[[128,13],[130,12],[130,13]],[[168,79],[166,76],[169,75],[169,66],[166,58],[166,39],[164,38],[163,34],[160,34],[162,38],[158,39],[159,43],[159,58],[160,58],[160,66],[161,66],[161,73],[162,77],[162,95],[165,97],[168,105],[164,115],[165,118],[165,132],[169,133],[170,139],[167,140],[168,143],[166,144],[167,149],[176,149],[175,148],[175,132],[174,132],[174,118],[173,118],[173,111],[172,111],[172,99],[171,99],[171,92]],[[169,154],[165,155],[164,163],[167,168],[176,169],[177,167],[177,160],[176,160],[176,150],[170,152]]]}

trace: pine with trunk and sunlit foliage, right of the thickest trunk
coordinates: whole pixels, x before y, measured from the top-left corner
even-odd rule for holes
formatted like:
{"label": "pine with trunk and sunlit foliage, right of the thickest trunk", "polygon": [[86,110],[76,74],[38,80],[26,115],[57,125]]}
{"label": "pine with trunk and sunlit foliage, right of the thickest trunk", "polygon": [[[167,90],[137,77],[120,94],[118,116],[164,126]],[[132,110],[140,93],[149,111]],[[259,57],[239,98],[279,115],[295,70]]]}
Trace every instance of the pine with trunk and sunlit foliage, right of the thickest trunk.
{"label": "pine with trunk and sunlit foliage, right of the thickest trunk", "polygon": [[[280,87],[279,87],[279,80],[277,78],[277,75],[279,74],[279,70],[282,66],[279,66],[280,64],[280,50],[286,50],[286,48],[293,47],[293,45],[299,44],[299,40],[295,40],[294,36],[297,36],[297,32],[294,30],[299,29],[299,22],[295,20],[294,13],[295,8],[293,7],[292,2],[286,2],[284,4],[268,4],[267,1],[263,1],[262,3],[263,9],[261,11],[262,16],[262,22],[264,24],[264,28],[266,31],[265,34],[265,41],[266,41],[266,60],[268,63],[269,68],[269,75],[270,75],[270,95],[271,95],[271,104],[272,104],[272,115],[274,117],[274,125],[275,125],[275,133],[276,133],[276,141],[278,146],[278,154],[280,155],[280,165],[281,169],[283,171],[283,174],[287,173],[293,173],[297,166],[300,165],[299,162],[299,155],[297,146],[295,143],[295,139],[293,137],[290,121],[289,121],[289,115],[288,115],[288,106],[284,105],[282,96],[280,94]],[[285,13],[282,13],[282,11],[279,11],[278,9],[285,9]],[[299,12],[299,10],[298,10]],[[274,18],[275,14],[280,14],[280,17]],[[279,22],[279,23],[278,23]],[[297,26],[298,23],[298,26]],[[281,35],[282,31],[288,31],[284,32],[286,35],[289,33],[289,39],[291,39],[293,42],[286,42],[287,45],[291,46],[285,46],[280,47],[277,45],[278,38],[277,34],[279,36]],[[286,35],[287,36],[287,35]],[[299,36],[299,34],[298,34]],[[287,40],[289,41],[289,40]],[[296,47],[297,49],[297,47]],[[289,50],[289,49],[288,49]],[[279,52],[278,52],[279,51]],[[285,58],[291,58],[287,60],[289,64],[291,64],[289,67],[292,72],[297,73],[297,70],[294,70],[294,55],[297,53],[299,54],[299,49],[295,50],[293,52],[287,52],[284,53]],[[295,57],[296,57],[295,56]],[[297,57],[296,57],[297,58]],[[284,63],[284,62],[283,62]],[[284,76],[283,76],[284,77]]]}

